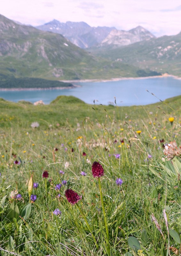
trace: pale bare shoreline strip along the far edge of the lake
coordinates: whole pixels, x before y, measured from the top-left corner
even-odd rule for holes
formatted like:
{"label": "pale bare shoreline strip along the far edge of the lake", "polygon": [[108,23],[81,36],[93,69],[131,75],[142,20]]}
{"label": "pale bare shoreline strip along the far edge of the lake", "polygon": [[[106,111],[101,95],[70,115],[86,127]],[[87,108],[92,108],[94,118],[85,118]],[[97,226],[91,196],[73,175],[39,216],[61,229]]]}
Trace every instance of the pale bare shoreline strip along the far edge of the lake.
{"label": "pale bare shoreline strip along the far edge of the lake", "polygon": [[[88,82],[116,82],[121,80],[139,80],[139,79],[150,79],[150,78],[165,78],[173,77],[174,79],[181,79],[179,76],[174,75],[161,75],[161,76],[145,76],[145,77],[117,77],[110,79],[80,79],[80,80],[59,80],[59,82],[65,83],[88,83]],[[45,87],[45,88],[0,88],[0,91],[46,91],[46,90],[64,90],[64,89],[75,89],[76,87],[81,87],[78,84],[72,84],[68,87]]]}

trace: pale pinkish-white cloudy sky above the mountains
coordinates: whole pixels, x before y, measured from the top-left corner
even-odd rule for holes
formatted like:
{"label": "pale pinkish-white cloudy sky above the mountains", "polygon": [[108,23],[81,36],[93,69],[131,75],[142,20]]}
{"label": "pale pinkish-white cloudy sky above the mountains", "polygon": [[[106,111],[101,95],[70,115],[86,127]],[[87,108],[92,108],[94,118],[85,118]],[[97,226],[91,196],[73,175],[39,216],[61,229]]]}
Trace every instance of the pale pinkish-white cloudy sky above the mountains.
{"label": "pale pinkish-white cloudy sky above the mountains", "polygon": [[5,0],[0,14],[32,26],[56,19],[122,30],[142,26],[155,36],[181,31],[180,0]]}

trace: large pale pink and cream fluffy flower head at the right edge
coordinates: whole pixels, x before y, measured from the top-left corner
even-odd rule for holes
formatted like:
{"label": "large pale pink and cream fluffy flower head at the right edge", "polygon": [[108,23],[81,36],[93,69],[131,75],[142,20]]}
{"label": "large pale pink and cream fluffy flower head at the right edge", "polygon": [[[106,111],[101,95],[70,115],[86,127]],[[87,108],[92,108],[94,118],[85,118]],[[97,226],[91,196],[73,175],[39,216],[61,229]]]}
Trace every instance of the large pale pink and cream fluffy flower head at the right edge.
{"label": "large pale pink and cream fluffy flower head at the right edge", "polygon": [[181,157],[181,146],[177,148],[177,143],[171,141],[168,145],[163,149],[164,155],[166,155],[167,161],[172,160],[175,156]]}

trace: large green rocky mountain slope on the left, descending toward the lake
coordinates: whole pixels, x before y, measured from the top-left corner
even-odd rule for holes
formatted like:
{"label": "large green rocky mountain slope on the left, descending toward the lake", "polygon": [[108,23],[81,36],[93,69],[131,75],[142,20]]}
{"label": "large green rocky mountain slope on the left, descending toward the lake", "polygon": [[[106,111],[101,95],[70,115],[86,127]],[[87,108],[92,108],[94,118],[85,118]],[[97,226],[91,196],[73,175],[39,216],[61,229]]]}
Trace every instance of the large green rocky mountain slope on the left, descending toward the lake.
{"label": "large green rocky mountain slope on the left, descending toward the lake", "polygon": [[0,31],[0,78],[78,80],[140,76],[139,68],[94,57],[62,35],[19,25],[2,15]]}

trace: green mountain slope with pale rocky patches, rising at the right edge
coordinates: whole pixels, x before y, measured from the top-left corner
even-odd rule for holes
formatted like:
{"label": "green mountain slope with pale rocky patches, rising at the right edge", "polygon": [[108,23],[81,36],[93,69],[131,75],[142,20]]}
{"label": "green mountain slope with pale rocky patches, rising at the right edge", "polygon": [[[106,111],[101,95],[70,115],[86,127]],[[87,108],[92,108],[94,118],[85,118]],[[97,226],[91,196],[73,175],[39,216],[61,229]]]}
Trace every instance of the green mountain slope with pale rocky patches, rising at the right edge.
{"label": "green mountain slope with pale rocky patches, rising at the right edge", "polygon": [[150,68],[157,72],[181,76],[181,33],[119,48],[109,45],[89,49],[89,52],[112,61],[117,60],[139,68]]}

